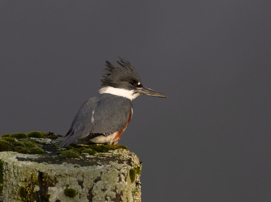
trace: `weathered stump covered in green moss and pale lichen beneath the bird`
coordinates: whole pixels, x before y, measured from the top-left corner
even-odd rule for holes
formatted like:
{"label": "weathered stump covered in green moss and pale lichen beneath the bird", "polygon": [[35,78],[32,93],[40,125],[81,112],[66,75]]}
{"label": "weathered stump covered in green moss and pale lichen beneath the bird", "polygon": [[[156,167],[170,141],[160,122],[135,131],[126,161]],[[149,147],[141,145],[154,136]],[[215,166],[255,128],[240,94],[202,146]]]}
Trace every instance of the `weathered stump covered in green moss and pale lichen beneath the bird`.
{"label": "weathered stump covered in green moss and pale lichen beneath the bird", "polygon": [[37,132],[1,137],[0,201],[141,201],[142,166],[127,147],[59,148],[63,140]]}

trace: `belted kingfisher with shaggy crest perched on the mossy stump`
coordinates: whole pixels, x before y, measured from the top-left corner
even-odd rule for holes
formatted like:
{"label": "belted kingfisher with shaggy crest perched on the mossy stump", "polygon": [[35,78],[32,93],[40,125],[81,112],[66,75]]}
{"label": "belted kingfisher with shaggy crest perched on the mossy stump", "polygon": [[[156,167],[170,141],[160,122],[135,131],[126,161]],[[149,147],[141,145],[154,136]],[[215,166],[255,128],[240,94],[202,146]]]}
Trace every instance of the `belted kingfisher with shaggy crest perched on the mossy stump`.
{"label": "belted kingfisher with shaggy crest perched on the mossy stump", "polygon": [[89,98],[80,107],[60,147],[76,139],[83,143],[117,144],[131,120],[134,98],[141,94],[167,98],[143,87],[130,62],[120,58],[117,63],[118,66],[114,66],[106,61],[99,95]]}

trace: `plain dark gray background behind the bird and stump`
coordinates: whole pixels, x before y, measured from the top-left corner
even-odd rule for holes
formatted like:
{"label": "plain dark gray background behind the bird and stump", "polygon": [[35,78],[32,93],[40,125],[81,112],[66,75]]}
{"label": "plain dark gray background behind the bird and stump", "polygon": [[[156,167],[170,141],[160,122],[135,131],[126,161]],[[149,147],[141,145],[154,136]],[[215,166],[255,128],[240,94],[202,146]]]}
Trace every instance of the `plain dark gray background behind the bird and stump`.
{"label": "plain dark gray background behind the bird and stump", "polygon": [[271,200],[270,1],[1,1],[0,133],[66,134],[105,60],[141,95],[143,201]]}

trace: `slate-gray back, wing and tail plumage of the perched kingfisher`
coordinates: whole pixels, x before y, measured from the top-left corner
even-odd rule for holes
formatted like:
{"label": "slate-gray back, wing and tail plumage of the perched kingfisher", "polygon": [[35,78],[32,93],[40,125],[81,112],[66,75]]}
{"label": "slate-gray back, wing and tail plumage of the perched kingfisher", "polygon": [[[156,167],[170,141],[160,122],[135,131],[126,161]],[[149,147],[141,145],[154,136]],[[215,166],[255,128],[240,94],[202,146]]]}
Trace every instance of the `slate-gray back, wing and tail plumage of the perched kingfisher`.
{"label": "slate-gray back, wing and tail plumage of the perched kingfisher", "polygon": [[90,98],[80,107],[66,135],[67,139],[60,147],[76,139],[89,140],[120,130],[127,122],[132,107],[131,100],[117,95],[105,93]]}

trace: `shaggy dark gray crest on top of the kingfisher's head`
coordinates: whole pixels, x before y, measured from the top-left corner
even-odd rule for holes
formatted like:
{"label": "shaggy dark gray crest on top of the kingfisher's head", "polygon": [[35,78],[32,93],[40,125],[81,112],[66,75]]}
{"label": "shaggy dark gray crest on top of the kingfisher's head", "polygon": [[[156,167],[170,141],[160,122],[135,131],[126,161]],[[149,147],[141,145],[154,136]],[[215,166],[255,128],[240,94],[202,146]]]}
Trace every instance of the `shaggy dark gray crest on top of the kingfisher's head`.
{"label": "shaggy dark gray crest on top of the kingfisher's head", "polygon": [[119,83],[127,82],[129,79],[140,82],[138,73],[130,62],[120,58],[117,63],[118,65],[114,66],[106,61],[105,66],[107,67],[103,70],[104,75],[101,77],[101,86],[117,87]]}

